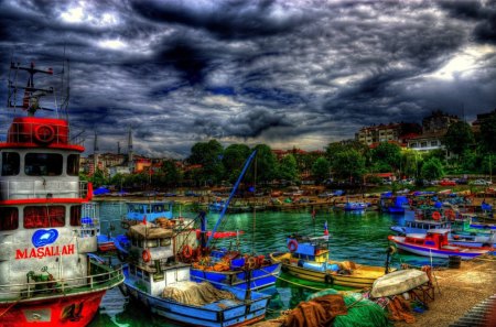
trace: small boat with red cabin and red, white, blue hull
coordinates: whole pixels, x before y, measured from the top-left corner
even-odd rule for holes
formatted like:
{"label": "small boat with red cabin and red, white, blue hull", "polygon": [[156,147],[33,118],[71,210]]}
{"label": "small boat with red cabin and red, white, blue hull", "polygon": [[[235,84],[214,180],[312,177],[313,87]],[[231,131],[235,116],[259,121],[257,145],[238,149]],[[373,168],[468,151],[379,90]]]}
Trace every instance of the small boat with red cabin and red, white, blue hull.
{"label": "small boat with red cabin and red, white, blue hull", "polygon": [[407,233],[407,236],[389,236],[398,249],[423,257],[449,258],[460,255],[462,260],[473,259],[489,250],[485,248],[465,248],[449,243],[449,229],[432,229],[427,233]]}

